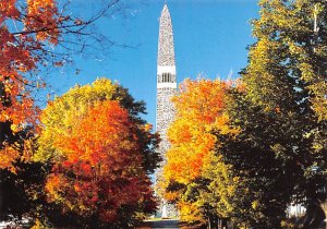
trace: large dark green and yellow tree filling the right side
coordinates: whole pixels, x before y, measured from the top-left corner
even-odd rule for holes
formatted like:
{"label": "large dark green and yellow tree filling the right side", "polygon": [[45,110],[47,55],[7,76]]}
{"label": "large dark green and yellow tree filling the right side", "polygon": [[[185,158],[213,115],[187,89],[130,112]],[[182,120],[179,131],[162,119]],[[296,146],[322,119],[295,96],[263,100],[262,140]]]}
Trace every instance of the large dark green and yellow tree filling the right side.
{"label": "large dark green and yellow tree filling the right side", "polygon": [[[241,132],[217,133],[225,142],[217,152],[242,184],[231,200],[235,218],[254,228],[281,228],[291,202],[319,208],[326,197],[318,192],[326,184],[326,2],[259,5],[257,41],[241,73],[246,89],[234,92],[227,108],[231,126]],[[308,228],[319,224],[308,221]]]}

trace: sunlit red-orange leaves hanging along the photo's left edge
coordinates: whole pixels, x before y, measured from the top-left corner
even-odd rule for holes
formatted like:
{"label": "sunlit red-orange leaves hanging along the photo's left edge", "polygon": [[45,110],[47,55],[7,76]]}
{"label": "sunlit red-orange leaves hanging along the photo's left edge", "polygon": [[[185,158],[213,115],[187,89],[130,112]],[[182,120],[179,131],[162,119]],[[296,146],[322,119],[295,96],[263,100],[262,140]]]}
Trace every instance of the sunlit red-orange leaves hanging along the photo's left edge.
{"label": "sunlit red-orange leaves hanging along the photo's left edge", "polygon": [[[39,110],[31,93],[44,84],[26,72],[43,60],[44,40],[56,45],[59,36],[53,0],[27,0],[26,8],[17,8],[20,3],[0,0],[0,122],[10,124],[13,134],[37,126]],[[9,142],[4,137],[0,143],[0,169],[14,170],[12,162],[21,152]]]}

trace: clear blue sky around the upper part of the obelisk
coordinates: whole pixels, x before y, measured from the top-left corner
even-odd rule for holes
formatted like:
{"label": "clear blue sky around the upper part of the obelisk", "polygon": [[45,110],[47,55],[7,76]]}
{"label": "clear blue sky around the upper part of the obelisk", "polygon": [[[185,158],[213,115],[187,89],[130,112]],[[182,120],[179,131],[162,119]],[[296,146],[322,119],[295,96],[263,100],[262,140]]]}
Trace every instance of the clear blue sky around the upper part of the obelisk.
{"label": "clear blue sky around the upper part of the obelisk", "polygon": [[[100,0],[93,0],[97,2]],[[86,0],[73,0],[73,10],[92,14]],[[98,58],[74,57],[78,75],[66,67],[51,74],[57,95],[75,84],[92,83],[99,76],[117,80],[137,100],[147,104],[146,120],[156,120],[156,71],[159,16],[167,2],[174,33],[178,83],[198,74],[215,79],[233,77],[246,65],[246,47],[254,43],[250,21],[258,16],[256,0],[128,0],[128,19],[104,17],[99,31],[120,44]],[[77,12],[73,12],[77,13]]]}

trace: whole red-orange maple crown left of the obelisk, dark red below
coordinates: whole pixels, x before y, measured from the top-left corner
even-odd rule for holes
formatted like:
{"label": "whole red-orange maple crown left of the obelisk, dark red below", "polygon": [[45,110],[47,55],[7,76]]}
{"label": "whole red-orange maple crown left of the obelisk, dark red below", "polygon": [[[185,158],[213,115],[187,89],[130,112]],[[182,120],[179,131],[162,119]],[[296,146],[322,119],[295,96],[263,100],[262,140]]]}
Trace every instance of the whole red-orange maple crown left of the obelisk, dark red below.
{"label": "whole red-orange maple crown left of the obelisk, dark red below", "polygon": [[63,156],[47,180],[49,201],[81,215],[99,213],[106,222],[117,220],[122,206],[153,202],[136,131],[119,101],[89,108],[69,135],[55,140]]}

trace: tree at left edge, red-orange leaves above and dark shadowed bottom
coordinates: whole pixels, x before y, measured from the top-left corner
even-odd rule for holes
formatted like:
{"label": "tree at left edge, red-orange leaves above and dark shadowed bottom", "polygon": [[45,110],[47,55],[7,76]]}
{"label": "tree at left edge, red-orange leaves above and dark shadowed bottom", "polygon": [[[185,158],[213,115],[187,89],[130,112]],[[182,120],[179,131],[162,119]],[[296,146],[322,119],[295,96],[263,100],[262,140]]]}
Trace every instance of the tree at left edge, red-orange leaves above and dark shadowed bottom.
{"label": "tree at left edge, red-orange leaves above and dark shadowed bottom", "polygon": [[[1,0],[0,9],[0,209],[2,213],[0,218],[2,220],[2,217],[5,219],[7,214],[22,217],[33,208],[27,197],[29,188],[26,186],[39,181],[40,177],[34,179],[33,169],[39,166],[25,165],[25,162],[32,154],[38,116],[31,92],[41,84],[29,79],[28,72],[37,69],[41,59],[39,51],[47,44],[55,45],[59,34],[56,31],[43,35],[34,32],[35,28],[53,27],[56,24],[58,11],[51,1],[28,1],[23,7],[15,0]],[[38,21],[40,15],[45,21]],[[26,177],[28,181],[24,181]]]}

